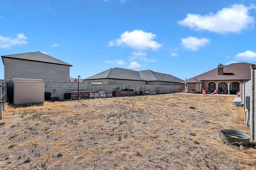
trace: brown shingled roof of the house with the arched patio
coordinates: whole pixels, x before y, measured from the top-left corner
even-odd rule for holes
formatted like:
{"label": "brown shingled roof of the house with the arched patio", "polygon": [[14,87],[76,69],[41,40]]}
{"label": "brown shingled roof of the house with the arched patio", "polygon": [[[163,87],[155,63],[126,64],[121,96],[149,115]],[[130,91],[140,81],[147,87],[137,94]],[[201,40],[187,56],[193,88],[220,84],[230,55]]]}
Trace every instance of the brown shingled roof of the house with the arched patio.
{"label": "brown shingled roof of the house with the arched patio", "polygon": [[[195,76],[200,81],[211,80],[250,80],[251,79],[251,66],[250,63],[233,63],[223,66],[223,75],[218,75],[218,68]],[[187,83],[192,78],[180,83]]]}

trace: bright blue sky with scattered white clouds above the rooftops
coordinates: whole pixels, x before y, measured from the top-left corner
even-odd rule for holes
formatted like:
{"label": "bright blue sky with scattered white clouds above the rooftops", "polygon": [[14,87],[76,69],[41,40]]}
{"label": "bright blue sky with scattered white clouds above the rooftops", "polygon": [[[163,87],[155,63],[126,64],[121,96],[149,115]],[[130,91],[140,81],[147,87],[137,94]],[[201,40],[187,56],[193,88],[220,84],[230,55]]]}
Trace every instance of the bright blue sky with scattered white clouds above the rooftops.
{"label": "bright blue sky with scattered white clouds above the rooftops", "polygon": [[256,0],[0,0],[0,55],[41,51],[73,78],[120,67],[185,80],[256,64],[255,17]]}

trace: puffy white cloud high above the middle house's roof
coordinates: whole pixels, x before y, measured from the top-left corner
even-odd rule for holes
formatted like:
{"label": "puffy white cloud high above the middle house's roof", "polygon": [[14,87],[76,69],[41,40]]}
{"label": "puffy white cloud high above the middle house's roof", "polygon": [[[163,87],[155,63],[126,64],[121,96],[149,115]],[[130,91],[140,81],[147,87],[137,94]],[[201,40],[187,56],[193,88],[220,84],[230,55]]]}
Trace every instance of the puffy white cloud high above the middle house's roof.
{"label": "puffy white cloud high above the middle house's roof", "polygon": [[144,49],[159,49],[162,44],[153,41],[156,37],[155,34],[147,33],[142,30],[134,30],[132,32],[125,31],[120,35],[119,39],[114,39],[113,41],[108,42],[108,47],[111,46],[128,46],[137,50]]}

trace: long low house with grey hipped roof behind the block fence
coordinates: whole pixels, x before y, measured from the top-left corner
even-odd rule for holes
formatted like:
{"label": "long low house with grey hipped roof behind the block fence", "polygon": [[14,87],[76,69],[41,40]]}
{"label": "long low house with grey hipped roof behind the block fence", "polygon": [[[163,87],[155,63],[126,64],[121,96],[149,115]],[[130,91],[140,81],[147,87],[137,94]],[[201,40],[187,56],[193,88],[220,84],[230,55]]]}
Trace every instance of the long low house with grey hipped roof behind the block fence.
{"label": "long low house with grey hipped roof behind the block fence", "polygon": [[124,68],[110,68],[83,80],[98,84],[138,84],[138,85],[180,85],[180,78],[152,70],[134,71]]}

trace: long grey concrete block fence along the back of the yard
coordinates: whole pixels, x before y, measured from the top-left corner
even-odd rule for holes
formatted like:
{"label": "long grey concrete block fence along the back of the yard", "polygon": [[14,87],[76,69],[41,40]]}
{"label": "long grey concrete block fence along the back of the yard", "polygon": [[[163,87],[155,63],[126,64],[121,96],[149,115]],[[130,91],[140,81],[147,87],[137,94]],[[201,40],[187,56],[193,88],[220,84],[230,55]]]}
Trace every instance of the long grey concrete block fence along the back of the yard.
{"label": "long grey concrete block fence along the back of the yard", "polygon": [[[14,80],[2,80],[7,83],[7,98],[8,102],[13,101],[13,86]],[[17,81],[40,81],[40,80],[17,80]],[[58,96],[60,100],[65,99],[66,92],[78,91],[78,82],[66,81],[43,81],[44,93],[51,93],[52,97]],[[167,94],[176,93],[180,90],[180,85],[136,85],[136,84],[92,84],[90,82],[79,82],[79,91],[88,91],[97,93],[104,91],[106,97],[112,97],[113,91],[118,88],[133,89],[134,92],[140,94],[140,90],[150,90],[150,93]]]}

